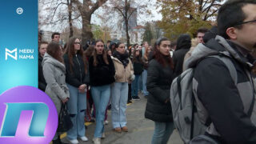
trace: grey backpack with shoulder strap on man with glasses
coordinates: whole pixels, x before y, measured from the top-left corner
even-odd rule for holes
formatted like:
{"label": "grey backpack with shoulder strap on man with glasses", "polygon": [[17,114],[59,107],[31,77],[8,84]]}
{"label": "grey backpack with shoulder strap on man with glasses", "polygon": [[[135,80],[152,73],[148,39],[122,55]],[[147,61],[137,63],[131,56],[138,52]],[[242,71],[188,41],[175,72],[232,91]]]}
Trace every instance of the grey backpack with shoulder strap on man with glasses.
{"label": "grey backpack with shoulder strap on man with glasses", "polygon": [[[218,58],[224,62],[230,70],[234,83],[238,83],[238,76],[230,58],[219,55],[208,57]],[[187,69],[173,80],[170,88],[170,102],[174,125],[178,129],[178,133],[184,143],[189,143],[192,138],[206,132],[206,124],[203,123],[202,117],[206,119],[208,116],[203,115],[199,117],[198,115],[196,106],[198,99],[194,97],[193,79],[194,68]]]}

